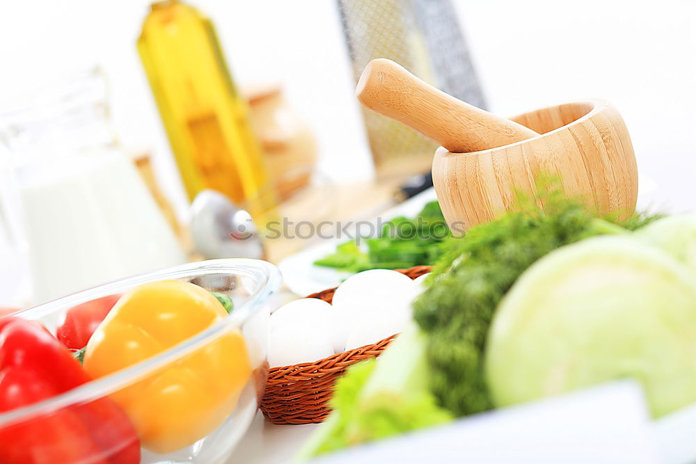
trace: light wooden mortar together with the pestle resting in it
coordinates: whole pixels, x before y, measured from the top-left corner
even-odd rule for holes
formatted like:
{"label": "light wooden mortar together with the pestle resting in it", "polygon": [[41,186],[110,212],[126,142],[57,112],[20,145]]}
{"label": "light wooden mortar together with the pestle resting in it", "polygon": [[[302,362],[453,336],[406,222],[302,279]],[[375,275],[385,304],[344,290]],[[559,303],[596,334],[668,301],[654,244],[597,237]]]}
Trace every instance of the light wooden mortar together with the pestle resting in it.
{"label": "light wooden mortar together with the pestle resting in it", "polygon": [[442,145],[433,184],[453,232],[514,209],[516,191],[536,193],[539,173],[599,214],[626,218],[638,197],[633,145],[619,112],[587,100],[505,119],[461,102],[379,58],[363,70],[358,100]]}

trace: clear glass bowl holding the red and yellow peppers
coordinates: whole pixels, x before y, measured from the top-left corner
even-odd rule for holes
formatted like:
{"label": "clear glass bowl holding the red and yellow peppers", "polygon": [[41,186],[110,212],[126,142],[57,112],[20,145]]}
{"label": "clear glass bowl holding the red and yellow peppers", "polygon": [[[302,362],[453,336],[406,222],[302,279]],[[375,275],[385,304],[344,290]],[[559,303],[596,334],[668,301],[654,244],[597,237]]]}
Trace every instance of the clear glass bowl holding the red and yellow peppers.
{"label": "clear glass bowl holding the red and yellow peppers", "polygon": [[[166,454],[156,454],[143,448],[139,462],[207,464],[226,461],[232,454],[236,443],[251,424],[266,384],[269,305],[265,303],[280,286],[280,273],[276,266],[255,259],[214,259],[184,264],[81,291],[17,312],[13,316],[40,321],[49,332],[55,333],[56,327],[62,323],[65,313],[71,307],[103,296],[123,294],[137,285],[157,280],[183,280],[208,291],[226,294],[232,298],[234,310],[209,328],[158,355],[113,374],[79,385],[79,387],[58,396],[1,413],[0,458],[3,455],[2,448],[10,445],[6,440],[8,437],[12,437],[13,440],[22,440],[28,447],[36,447],[37,454],[51,456],[55,450],[56,460],[52,462],[60,461],[61,464],[70,464],[65,463],[63,458],[58,458],[58,456],[62,456],[58,454],[58,450],[61,447],[63,449],[72,447],[72,444],[66,443],[65,436],[61,437],[61,433],[53,433],[58,432],[55,424],[61,424],[59,419],[64,417],[61,414],[65,415],[66,412],[79,413],[80,408],[90,408],[90,405],[101,404],[100,402],[103,401],[116,400],[118,395],[125,394],[124,392],[143,392],[144,390],[134,389],[146,385],[145,382],[156,380],[156,376],[166,372],[168,367],[173,369],[176,366],[184,365],[183,363],[187,360],[200,360],[201,358],[195,357],[205,355],[208,353],[206,349],[210,349],[213,344],[230,336],[232,332],[239,334],[241,330],[241,339],[246,344],[248,360],[251,365],[251,369],[246,369],[245,372],[251,370],[251,374],[245,377],[246,383],[241,388],[241,392],[237,393],[239,396],[225,403],[227,409],[216,409],[217,416],[220,416],[221,410],[223,415],[214,422],[212,427],[214,430],[207,431],[200,438],[194,437],[195,442],[187,444],[182,449],[166,452]],[[209,369],[219,366],[216,364],[216,361],[219,360],[214,358],[206,361]],[[127,390],[129,388],[132,389]],[[104,399],[105,397],[110,399]],[[146,401],[150,400],[157,399],[146,399]],[[205,398],[201,398],[201,402],[203,401]],[[118,403],[118,401],[113,402]],[[90,429],[88,433],[92,436],[100,433],[108,434],[113,433],[113,424],[97,421],[90,423],[85,429]],[[50,431],[50,433],[44,433],[45,436],[40,440],[31,436],[41,433],[41,431]],[[2,438],[3,435],[5,438]],[[131,445],[133,444],[131,443]],[[81,446],[79,442],[74,444],[74,447],[79,446]],[[129,444],[122,443],[113,446],[125,449],[129,447]],[[32,449],[33,451],[34,449]],[[131,464],[133,461],[138,462],[137,458],[119,460],[119,458],[109,455],[109,453],[118,454],[118,452],[118,449],[100,450],[93,458],[90,456],[87,461],[82,459],[79,462],[81,464],[117,462]]]}

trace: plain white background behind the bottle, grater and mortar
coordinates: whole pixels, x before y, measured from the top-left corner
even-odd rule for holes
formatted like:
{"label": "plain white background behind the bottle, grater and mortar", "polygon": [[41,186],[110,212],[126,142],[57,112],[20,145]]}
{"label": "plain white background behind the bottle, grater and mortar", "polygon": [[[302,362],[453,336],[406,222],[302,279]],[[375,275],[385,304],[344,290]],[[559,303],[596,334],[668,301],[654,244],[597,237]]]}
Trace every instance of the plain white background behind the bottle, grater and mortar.
{"label": "plain white background behind the bottle, grater and mortar", "polygon": [[[512,115],[583,97],[622,112],[659,202],[693,205],[696,1],[454,0],[493,111]],[[196,0],[214,19],[239,82],[278,80],[338,179],[372,168],[333,0]],[[122,142],[155,152],[185,207],[135,42],[146,0],[23,0],[0,6],[0,102],[100,63]],[[1,105],[0,105],[1,111]]]}

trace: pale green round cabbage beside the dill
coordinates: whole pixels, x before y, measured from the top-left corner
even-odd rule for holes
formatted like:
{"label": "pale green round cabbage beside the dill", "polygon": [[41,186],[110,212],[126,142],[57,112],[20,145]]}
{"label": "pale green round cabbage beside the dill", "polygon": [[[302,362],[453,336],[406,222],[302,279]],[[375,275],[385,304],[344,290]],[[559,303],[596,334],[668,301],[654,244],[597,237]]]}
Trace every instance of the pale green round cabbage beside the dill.
{"label": "pale green round cabbage beside the dill", "polygon": [[654,417],[694,403],[696,273],[631,235],[559,248],[500,303],[485,369],[496,406],[625,377]]}

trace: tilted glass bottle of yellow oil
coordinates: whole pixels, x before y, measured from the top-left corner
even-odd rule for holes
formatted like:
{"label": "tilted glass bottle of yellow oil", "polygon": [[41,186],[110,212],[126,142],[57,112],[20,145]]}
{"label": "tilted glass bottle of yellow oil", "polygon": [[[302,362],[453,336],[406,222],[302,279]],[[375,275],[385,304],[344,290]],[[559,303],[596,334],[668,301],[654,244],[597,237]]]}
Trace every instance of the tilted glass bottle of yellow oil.
{"label": "tilted glass bottle of yellow oil", "polygon": [[276,195],[210,19],[177,0],[152,3],[138,50],[189,199],[214,189],[266,223]]}

